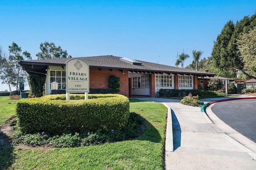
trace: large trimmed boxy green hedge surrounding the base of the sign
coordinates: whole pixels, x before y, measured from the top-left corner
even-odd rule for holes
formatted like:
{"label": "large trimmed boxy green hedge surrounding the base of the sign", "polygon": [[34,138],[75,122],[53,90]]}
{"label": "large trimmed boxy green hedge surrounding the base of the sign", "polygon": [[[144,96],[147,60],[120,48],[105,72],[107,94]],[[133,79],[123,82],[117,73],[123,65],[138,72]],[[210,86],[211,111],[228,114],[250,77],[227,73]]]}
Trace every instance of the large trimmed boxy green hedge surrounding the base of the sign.
{"label": "large trimmed boxy green hedge surrounding the base of the sign", "polygon": [[17,102],[16,113],[22,132],[49,132],[52,135],[71,132],[95,132],[121,129],[129,117],[129,100],[119,94],[47,95]]}

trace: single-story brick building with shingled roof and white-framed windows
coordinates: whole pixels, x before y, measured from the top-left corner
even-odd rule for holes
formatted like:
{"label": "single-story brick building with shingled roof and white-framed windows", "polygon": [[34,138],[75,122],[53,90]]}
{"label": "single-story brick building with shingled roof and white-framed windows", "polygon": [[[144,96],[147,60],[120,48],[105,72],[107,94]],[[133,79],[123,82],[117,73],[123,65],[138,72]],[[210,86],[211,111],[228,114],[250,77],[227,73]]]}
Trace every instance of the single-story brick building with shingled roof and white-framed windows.
{"label": "single-story brick building with shingled roof and white-framed windows", "polygon": [[[109,77],[115,75],[120,77],[119,94],[127,97],[132,95],[153,97],[160,88],[197,89],[198,85],[202,84],[203,77],[215,75],[112,55],[77,59],[82,59],[89,65],[90,88],[108,88]],[[40,75],[48,95],[51,90],[66,89],[66,61],[68,60],[68,58],[23,60],[19,64],[29,75]]]}

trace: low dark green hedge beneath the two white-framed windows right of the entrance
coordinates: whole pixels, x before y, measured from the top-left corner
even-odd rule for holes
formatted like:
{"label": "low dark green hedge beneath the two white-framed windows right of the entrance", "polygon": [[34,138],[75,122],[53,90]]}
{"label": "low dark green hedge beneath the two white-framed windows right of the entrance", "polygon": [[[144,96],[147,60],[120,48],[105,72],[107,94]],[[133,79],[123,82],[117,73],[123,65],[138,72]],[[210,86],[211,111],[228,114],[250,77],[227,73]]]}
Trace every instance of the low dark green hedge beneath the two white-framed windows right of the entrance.
{"label": "low dark green hedge beneath the two white-framed windows right of the entrance", "polygon": [[185,89],[181,89],[181,90],[176,90],[176,89],[160,89],[158,91],[158,97],[160,98],[171,98],[171,97],[184,97],[184,96],[188,96],[189,93],[192,93],[193,96],[200,96],[202,90],[198,89],[198,90],[185,90]]}

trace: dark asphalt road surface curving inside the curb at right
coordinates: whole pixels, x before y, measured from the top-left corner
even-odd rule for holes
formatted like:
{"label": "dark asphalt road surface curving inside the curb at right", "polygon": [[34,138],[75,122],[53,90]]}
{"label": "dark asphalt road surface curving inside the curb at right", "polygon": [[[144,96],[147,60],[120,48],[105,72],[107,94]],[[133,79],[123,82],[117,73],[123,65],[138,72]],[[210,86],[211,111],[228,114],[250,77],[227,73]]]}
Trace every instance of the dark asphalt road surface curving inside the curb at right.
{"label": "dark asphalt road surface curving inside the curb at right", "polygon": [[230,127],[256,142],[256,99],[219,102],[212,111]]}

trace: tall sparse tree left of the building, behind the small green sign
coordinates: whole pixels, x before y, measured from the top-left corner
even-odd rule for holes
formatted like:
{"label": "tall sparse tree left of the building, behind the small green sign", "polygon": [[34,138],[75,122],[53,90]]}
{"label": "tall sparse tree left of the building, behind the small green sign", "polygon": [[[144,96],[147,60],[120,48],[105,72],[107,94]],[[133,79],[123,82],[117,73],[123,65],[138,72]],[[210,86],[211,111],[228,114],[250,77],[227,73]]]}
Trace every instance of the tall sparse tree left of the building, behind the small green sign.
{"label": "tall sparse tree left of the building, behind the small green sign", "polygon": [[27,73],[22,69],[22,66],[18,63],[20,60],[28,59],[31,60],[32,57],[28,51],[24,51],[22,53],[21,47],[19,47],[16,43],[12,42],[12,45],[9,46],[9,64],[12,67],[12,71],[8,74],[10,78],[10,84],[16,87],[18,90],[18,78],[24,77]]}

